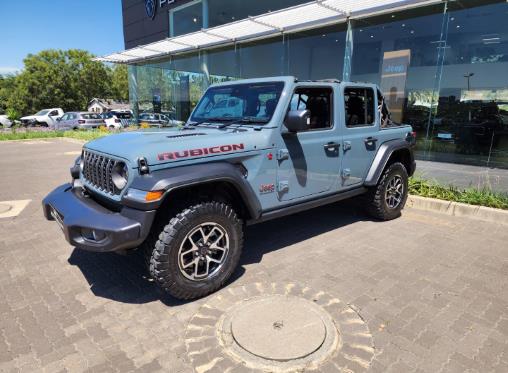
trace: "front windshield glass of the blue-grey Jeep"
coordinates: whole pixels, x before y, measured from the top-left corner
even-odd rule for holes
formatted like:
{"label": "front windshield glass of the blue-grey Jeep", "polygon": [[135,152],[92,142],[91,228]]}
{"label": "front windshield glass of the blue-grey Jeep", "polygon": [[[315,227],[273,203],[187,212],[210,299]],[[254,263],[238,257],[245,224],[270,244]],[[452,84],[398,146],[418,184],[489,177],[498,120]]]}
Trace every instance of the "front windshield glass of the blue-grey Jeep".
{"label": "front windshield glass of the blue-grey Jeep", "polygon": [[283,82],[210,88],[194,110],[191,121],[249,118],[249,123],[266,123],[272,119],[283,88]]}

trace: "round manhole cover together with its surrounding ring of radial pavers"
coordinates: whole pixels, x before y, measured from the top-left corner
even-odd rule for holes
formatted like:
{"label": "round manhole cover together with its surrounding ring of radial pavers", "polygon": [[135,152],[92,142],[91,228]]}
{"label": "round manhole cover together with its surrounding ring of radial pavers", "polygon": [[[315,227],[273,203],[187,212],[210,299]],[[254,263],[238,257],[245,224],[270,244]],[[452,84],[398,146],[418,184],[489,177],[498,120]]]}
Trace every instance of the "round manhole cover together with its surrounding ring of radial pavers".
{"label": "round manhole cover together with its surrounding ring of radial pavers", "polygon": [[364,372],[374,356],[372,336],[354,309],[291,283],[222,290],[192,317],[185,344],[198,373]]}

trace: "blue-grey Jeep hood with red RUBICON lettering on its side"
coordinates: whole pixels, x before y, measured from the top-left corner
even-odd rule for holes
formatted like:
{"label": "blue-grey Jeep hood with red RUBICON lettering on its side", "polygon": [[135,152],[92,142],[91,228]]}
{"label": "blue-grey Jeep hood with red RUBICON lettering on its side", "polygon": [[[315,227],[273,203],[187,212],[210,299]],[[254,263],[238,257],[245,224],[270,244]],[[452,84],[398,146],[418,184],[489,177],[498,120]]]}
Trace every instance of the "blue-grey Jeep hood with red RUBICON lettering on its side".
{"label": "blue-grey Jeep hood with red RUBICON lettering on its side", "polygon": [[144,157],[152,166],[259,150],[265,143],[262,132],[203,127],[142,130],[105,136],[87,143],[85,148],[124,158],[134,167]]}

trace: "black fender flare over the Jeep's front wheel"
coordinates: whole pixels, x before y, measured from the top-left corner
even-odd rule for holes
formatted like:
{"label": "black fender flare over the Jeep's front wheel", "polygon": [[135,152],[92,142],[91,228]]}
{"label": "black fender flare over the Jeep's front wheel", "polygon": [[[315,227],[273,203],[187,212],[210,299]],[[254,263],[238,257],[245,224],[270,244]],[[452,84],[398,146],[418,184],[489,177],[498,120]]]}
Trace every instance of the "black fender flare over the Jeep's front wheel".
{"label": "black fender flare over the Jeep's front wheel", "polygon": [[142,210],[156,210],[162,203],[162,200],[172,191],[215,181],[225,181],[233,185],[243,199],[251,219],[257,219],[261,215],[261,204],[249,182],[245,179],[237,165],[228,162],[171,167],[138,176],[129,188],[143,191],[164,190],[164,197],[159,201],[140,203],[130,199],[127,193],[122,198],[122,202],[129,207]]}

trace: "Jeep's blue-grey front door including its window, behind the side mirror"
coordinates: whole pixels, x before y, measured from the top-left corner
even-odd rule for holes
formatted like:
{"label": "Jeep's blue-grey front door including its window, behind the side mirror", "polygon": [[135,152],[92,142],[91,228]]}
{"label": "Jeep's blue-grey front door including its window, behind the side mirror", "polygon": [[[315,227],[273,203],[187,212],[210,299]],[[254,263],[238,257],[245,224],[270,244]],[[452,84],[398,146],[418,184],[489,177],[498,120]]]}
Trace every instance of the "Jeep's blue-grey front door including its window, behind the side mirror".
{"label": "Jeep's blue-grey front door including its window, behind the side mirror", "polygon": [[329,85],[302,84],[289,110],[309,110],[306,131],[284,133],[279,146],[277,191],[280,201],[297,200],[333,190],[340,174],[340,136]]}

